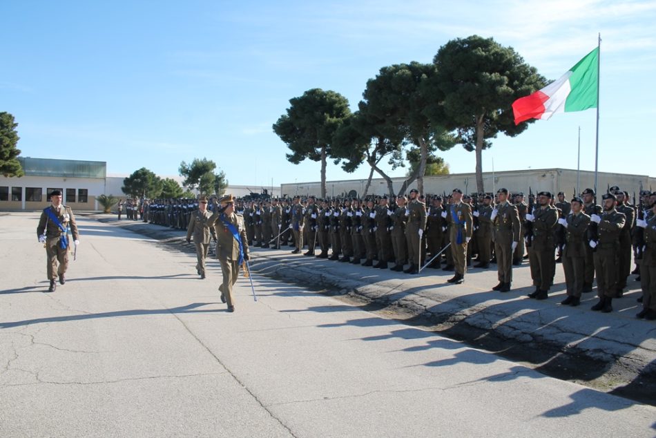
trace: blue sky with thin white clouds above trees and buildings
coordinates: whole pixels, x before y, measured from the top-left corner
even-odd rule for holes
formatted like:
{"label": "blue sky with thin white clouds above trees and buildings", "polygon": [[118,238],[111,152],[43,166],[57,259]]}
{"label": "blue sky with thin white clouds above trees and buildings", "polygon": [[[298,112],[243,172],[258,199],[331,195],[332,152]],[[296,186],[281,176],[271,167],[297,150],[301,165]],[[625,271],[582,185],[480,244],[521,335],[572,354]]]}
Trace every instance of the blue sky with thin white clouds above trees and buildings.
{"label": "blue sky with thin white clouds above trees and buildings", "polygon": [[[330,89],[357,107],[383,66],[431,62],[477,34],[515,48],[557,79],[601,32],[599,170],[653,171],[656,1],[12,1],[3,4],[0,111],[19,123],[23,156],[106,161],[176,175],[206,157],[251,189],[319,180],[271,131],[289,99]],[[594,169],[595,111],[500,135],[483,170]],[[452,173],[474,153],[443,153]],[[650,159],[646,159],[650,158]],[[367,178],[368,167],[327,178]],[[404,169],[391,172],[402,176]]]}

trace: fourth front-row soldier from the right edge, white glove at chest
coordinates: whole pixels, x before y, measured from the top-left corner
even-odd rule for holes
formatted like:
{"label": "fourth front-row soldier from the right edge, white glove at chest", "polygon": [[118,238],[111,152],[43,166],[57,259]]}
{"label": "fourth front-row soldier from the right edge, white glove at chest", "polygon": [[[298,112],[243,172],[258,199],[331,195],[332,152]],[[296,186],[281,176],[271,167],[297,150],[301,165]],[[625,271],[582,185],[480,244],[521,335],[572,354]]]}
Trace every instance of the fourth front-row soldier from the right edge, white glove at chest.
{"label": "fourth front-row soldier from the right edge, white glove at chest", "polygon": [[529,298],[545,300],[554,282],[554,227],[558,222],[558,212],[552,207],[552,196],[548,191],[538,193],[539,208],[526,213],[526,220],[533,223],[533,240],[529,251],[531,277],[535,292]]}

